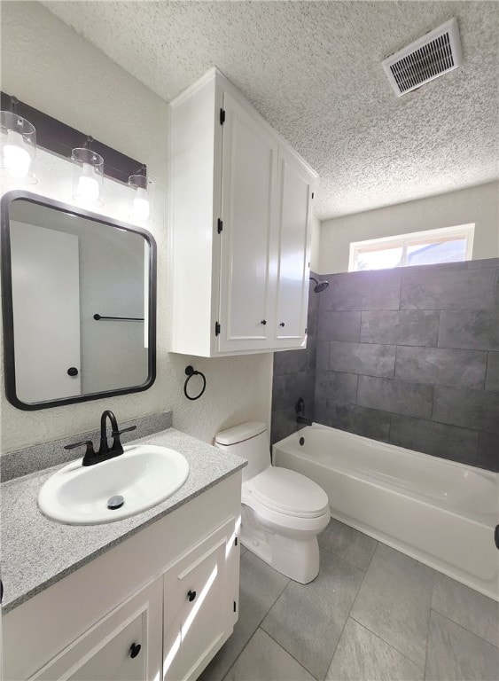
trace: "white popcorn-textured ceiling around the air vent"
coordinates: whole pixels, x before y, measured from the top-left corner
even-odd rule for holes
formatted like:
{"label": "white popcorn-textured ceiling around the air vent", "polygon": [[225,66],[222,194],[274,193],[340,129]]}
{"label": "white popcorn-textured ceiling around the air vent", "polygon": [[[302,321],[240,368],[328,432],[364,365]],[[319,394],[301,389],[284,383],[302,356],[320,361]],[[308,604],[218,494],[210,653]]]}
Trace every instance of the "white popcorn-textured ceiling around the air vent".
{"label": "white popcorn-textured ceiling around the air vent", "polygon": [[[495,2],[44,2],[161,97],[219,67],[320,175],[320,219],[498,176]],[[455,16],[464,65],[395,98],[381,60]]]}

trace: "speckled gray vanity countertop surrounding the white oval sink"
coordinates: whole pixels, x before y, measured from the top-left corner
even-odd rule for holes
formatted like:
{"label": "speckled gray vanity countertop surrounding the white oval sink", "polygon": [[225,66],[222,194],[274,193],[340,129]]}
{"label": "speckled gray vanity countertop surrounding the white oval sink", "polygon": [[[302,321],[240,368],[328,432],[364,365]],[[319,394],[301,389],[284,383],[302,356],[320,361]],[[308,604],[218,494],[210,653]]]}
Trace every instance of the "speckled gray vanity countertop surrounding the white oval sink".
{"label": "speckled gray vanity countertop surrounding the white oval sink", "polygon": [[4,614],[246,466],[245,459],[174,428],[133,442],[180,451],[189,462],[189,477],[167,501],[122,521],[62,525],[45,518],[38,509],[38,491],[62,466],[0,486]]}

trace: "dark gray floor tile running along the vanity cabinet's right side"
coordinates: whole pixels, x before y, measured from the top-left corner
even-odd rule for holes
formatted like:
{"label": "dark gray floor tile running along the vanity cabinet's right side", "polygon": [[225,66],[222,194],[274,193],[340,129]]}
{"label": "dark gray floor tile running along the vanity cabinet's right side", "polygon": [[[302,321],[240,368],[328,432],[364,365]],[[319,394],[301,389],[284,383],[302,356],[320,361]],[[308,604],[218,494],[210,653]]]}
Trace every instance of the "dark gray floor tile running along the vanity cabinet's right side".
{"label": "dark gray floor tile running along the vanity cabinet's right side", "polygon": [[287,577],[270,568],[251,551],[241,555],[238,623],[199,681],[220,681],[288,582]]}

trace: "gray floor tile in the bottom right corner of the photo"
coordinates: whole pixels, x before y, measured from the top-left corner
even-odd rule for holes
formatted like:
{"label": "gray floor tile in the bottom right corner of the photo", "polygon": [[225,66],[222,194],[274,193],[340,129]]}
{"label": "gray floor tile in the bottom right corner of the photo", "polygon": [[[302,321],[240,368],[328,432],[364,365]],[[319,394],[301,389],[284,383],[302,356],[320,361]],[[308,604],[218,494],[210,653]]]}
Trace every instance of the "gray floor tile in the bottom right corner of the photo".
{"label": "gray floor tile in the bottom right corner of the photo", "polygon": [[428,681],[497,681],[499,649],[432,611],[428,638]]}

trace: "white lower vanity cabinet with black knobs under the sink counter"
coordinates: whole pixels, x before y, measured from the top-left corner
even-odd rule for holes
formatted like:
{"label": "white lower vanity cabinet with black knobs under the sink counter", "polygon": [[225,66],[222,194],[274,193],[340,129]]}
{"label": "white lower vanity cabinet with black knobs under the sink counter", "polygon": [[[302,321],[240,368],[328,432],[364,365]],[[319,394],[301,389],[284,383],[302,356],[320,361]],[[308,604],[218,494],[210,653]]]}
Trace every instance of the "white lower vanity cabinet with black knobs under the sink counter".
{"label": "white lower vanity cabinet with black knobs under the sink counter", "polygon": [[196,679],[238,619],[240,490],[238,472],[5,614],[4,681]]}

